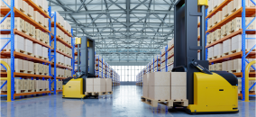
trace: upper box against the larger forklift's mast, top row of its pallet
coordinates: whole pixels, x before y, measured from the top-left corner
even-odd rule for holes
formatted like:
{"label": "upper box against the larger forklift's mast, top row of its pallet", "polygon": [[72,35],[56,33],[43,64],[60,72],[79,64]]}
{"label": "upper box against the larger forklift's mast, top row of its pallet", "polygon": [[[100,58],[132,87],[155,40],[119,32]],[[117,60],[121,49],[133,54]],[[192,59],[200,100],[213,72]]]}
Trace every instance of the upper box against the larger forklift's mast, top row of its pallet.
{"label": "upper box against the larger forklift's mast, top row of its pallet", "polygon": [[170,85],[187,85],[187,72],[170,72]]}

